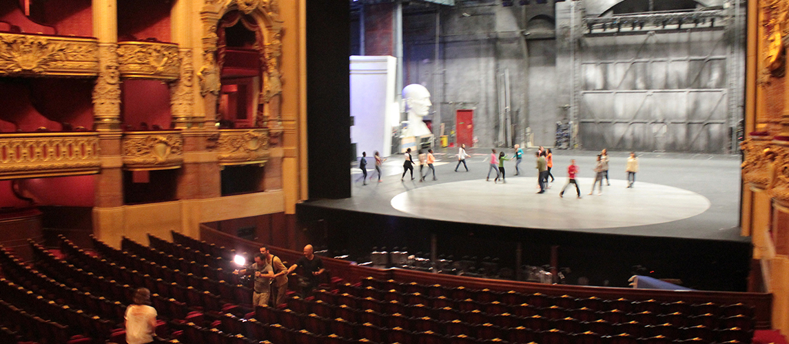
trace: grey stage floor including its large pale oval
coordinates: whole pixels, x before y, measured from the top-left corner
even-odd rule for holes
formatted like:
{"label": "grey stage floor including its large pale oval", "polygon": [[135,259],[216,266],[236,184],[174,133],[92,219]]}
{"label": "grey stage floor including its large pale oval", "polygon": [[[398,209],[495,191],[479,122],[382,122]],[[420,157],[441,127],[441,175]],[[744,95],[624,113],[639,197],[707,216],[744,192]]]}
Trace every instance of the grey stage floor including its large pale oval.
{"label": "grey stage floor including its large pale oval", "polygon": [[[436,152],[438,180],[400,180],[402,156],[383,166],[383,182],[368,170],[362,185],[361,170],[351,168],[352,198],[317,200],[308,205],[364,213],[448,220],[505,227],[543,228],[608,235],[637,235],[679,239],[747,242],[739,235],[740,157],[720,154],[639,153],[640,172],[634,188],[626,188],[627,152],[611,152],[611,186],[603,194],[588,195],[598,152],[556,150],[555,183],[536,194],[534,150],[526,150],[514,176],[514,161],[507,161],[507,183],[485,181],[489,149],[468,150],[469,172],[461,165],[454,172],[457,149]],[[511,155],[511,150],[507,150]],[[572,185],[564,198],[559,190],[567,181],[567,165],[576,159],[581,197]],[[371,158],[372,161],[372,158]],[[355,164],[354,164],[355,166]],[[372,163],[368,164],[371,168]],[[427,170],[427,168],[425,168]]]}

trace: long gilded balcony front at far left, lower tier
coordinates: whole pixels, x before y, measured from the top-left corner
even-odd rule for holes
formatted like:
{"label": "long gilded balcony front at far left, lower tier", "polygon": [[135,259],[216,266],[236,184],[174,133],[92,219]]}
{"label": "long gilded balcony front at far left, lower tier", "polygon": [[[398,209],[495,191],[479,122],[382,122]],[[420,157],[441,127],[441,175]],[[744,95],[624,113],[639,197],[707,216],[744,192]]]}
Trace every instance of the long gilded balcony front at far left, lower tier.
{"label": "long gilded balcony front at far left, lower tier", "polygon": [[95,132],[0,134],[0,179],[98,173]]}

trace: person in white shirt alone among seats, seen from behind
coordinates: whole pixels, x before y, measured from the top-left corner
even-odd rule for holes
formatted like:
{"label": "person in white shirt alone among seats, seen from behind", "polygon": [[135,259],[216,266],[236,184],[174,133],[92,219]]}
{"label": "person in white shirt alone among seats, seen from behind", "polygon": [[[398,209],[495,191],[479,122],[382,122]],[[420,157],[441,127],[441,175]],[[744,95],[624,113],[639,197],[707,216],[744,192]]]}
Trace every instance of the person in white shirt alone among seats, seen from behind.
{"label": "person in white shirt alone among seats, seen from behind", "polygon": [[126,307],[126,342],[145,344],[154,342],[156,331],[156,309],[150,306],[151,290],[134,290],[132,305]]}

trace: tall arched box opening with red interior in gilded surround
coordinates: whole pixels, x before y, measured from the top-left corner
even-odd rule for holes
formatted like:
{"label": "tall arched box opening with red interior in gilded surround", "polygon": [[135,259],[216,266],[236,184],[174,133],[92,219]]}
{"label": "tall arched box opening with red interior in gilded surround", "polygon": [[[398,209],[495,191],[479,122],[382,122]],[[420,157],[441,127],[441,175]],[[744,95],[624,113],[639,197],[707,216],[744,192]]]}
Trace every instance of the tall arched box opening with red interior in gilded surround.
{"label": "tall arched box opening with red interior in gilded surround", "polygon": [[222,88],[219,93],[219,128],[253,128],[258,113],[260,46],[264,46],[256,21],[239,11],[230,11],[220,22],[219,67]]}

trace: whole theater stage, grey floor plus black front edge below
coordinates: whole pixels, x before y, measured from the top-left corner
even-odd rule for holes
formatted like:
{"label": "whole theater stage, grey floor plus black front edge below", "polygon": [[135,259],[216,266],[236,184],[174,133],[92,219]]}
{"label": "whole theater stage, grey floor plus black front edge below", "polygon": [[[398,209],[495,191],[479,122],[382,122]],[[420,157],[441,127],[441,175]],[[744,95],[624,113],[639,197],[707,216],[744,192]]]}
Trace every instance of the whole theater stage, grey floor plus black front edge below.
{"label": "whole theater stage, grey floor plus black front edge below", "polygon": [[[428,251],[430,240],[437,238],[439,252],[455,254],[484,256],[498,250],[508,257],[520,247],[527,256],[524,264],[533,264],[529,259],[544,262],[550,259],[545,253],[549,246],[562,246],[563,261],[576,266],[589,257],[601,263],[604,255],[611,263],[619,261],[621,269],[649,261],[681,275],[668,267],[690,260],[704,265],[694,266],[697,272],[726,264],[731,274],[746,274],[750,239],[739,235],[739,156],[639,153],[640,171],[634,188],[628,189],[628,154],[612,152],[611,186],[590,196],[596,151],[556,150],[555,183],[545,194],[536,194],[534,150],[525,152],[520,176],[514,176],[513,161],[505,163],[507,183],[493,183],[493,177],[485,181],[489,149],[469,150],[469,172],[462,165],[454,172],[456,152],[437,152],[436,181],[428,177],[420,183],[409,176],[401,181],[402,156],[384,163],[382,183],[376,183],[376,176],[363,186],[361,171],[351,168],[352,198],[306,202],[298,206],[298,216],[305,222],[324,220],[327,246],[357,254],[372,246]],[[559,198],[570,159],[576,159],[580,170],[580,199],[572,185]],[[374,169],[368,171],[373,174]],[[467,245],[470,238],[474,247]],[[732,281],[724,284],[739,283]]]}

